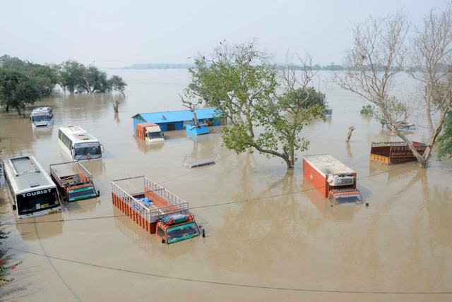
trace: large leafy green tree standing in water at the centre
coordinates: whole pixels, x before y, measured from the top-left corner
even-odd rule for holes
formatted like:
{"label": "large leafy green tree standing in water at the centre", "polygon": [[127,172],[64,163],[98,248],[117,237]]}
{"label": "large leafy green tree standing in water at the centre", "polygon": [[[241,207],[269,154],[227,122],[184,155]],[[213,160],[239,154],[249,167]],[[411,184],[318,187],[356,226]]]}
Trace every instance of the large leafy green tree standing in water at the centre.
{"label": "large leafy green tree standing in water at the centre", "polygon": [[[300,136],[303,126],[324,116],[325,96],[314,88],[280,87],[276,66],[253,43],[215,48],[210,59],[200,55],[190,69],[186,97],[217,107],[230,125],[222,132],[225,146],[237,152],[258,152],[295,164],[295,151],[306,150],[309,141]],[[295,84],[295,83],[294,83]]]}

